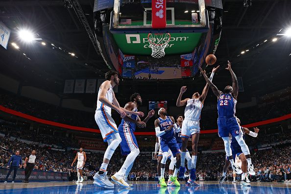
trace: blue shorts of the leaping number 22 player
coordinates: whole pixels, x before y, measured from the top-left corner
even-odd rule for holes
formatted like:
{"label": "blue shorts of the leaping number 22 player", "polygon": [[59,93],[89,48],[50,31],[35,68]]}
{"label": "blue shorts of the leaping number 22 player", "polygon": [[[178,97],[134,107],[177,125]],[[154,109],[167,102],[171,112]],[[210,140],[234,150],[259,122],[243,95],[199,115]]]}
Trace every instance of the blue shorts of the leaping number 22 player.
{"label": "blue shorts of the leaping number 22 player", "polygon": [[241,134],[240,125],[235,117],[218,117],[217,124],[219,137],[229,137],[229,134],[231,134],[231,136],[234,138]]}

